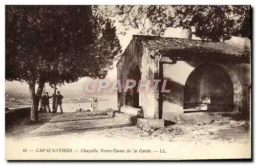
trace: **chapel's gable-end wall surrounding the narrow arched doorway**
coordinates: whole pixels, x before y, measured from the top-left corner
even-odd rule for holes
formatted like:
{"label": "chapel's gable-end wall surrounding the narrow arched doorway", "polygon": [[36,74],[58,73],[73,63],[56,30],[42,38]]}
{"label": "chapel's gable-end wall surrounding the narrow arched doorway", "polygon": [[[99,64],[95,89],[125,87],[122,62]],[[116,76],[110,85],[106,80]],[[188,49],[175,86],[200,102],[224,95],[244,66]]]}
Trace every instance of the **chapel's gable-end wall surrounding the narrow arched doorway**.
{"label": "chapel's gable-end wall surrounding the narrow arched doorway", "polygon": [[[139,44],[136,39],[132,39],[129,46],[127,46],[124,51],[121,59],[117,63],[117,79],[120,79],[122,91],[124,90],[125,81],[128,79],[134,79],[133,73],[137,66],[140,69],[141,73],[141,83],[147,83],[147,80],[153,81],[155,73],[157,72],[157,66],[155,64],[154,59],[151,58],[150,54],[152,52],[148,51],[145,46]],[[139,92],[139,106],[143,110],[144,117],[148,119],[157,119],[158,112],[158,102],[155,98],[155,93],[153,92],[145,92],[143,88],[141,88]],[[118,93],[118,110],[121,109],[122,106],[131,106],[134,105],[133,98],[135,96],[132,93]],[[137,107],[136,107],[137,108]]]}

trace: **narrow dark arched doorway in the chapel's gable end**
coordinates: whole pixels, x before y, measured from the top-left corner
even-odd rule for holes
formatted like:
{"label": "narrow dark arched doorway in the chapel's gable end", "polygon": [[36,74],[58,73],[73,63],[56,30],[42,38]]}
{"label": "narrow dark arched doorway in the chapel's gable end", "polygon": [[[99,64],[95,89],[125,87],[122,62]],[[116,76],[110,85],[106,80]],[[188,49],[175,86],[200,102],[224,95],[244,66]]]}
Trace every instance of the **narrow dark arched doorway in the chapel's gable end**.
{"label": "narrow dark arched doorway in the chapel's gable end", "polygon": [[[139,92],[137,92],[139,80],[141,79],[141,73],[140,68],[138,65],[135,65],[134,63],[130,64],[130,69],[128,71],[128,74],[126,76],[126,80],[135,80],[136,86],[132,89],[128,89],[125,94],[125,105],[134,107],[134,108],[140,108],[139,104]],[[131,84],[130,84],[131,85]]]}

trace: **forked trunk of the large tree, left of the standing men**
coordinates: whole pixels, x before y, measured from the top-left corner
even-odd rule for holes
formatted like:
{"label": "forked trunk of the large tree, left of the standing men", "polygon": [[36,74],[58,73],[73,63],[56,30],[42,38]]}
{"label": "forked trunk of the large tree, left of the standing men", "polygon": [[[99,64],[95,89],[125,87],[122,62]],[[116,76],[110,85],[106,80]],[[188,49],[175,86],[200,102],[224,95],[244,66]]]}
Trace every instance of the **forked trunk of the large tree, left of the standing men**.
{"label": "forked trunk of the large tree, left of the standing men", "polygon": [[32,107],[30,112],[30,121],[38,122],[38,106],[41,99],[42,90],[44,89],[45,81],[40,80],[38,83],[37,92],[35,93],[35,82],[29,83],[30,98],[32,100]]}

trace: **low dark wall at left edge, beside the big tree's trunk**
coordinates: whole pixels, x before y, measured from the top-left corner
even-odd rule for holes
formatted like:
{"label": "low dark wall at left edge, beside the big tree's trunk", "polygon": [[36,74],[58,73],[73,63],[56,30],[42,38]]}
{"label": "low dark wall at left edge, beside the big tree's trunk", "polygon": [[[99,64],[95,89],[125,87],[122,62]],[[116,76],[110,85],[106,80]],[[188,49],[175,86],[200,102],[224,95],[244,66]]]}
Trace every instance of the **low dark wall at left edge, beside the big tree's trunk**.
{"label": "low dark wall at left edge, beside the big tree's trunk", "polygon": [[31,107],[27,108],[17,108],[9,112],[5,112],[5,124],[10,125],[16,122],[19,119],[30,116]]}

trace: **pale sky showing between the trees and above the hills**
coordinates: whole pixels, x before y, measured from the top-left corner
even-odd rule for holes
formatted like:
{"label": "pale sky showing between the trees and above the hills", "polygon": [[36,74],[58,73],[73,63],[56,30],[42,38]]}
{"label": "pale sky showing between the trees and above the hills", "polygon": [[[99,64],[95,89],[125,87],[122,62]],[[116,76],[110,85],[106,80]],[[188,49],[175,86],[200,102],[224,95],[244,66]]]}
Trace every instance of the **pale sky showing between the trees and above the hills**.
{"label": "pale sky showing between the trees and above the hills", "polygon": [[[116,21],[114,23],[114,25],[118,29],[121,26],[121,23]],[[181,28],[169,28],[165,31],[164,36],[165,37],[180,37],[181,30],[182,30]],[[130,41],[132,40],[133,35],[139,34],[139,31],[140,31],[139,29],[134,30],[131,28],[126,31],[126,35],[117,34],[117,36],[120,40],[120,44],[122,46],[122,51],[124,51],[126,49],[127,45],[129,45]],[[199,39],[199,38],[193,36],[193,39]],[[241,46],[241,47],[244,45],[244,39],[239,38],[239,37],[233,37],[228,42],[230,42],[231,44]],[[109,73],[106,76],[106,79],[116,80],[116,78],[117,78],[117,68],[115,66],[116,62],[117,61],[114,62],[114,68],[112,70],[109,70]],[[58,87],[58,89],[59,90],[67,90],[67,91],[84,90],[83,89],[84,84],[89,79],[90,78],[81,78],[79,81],[77,81],[75,83],[65,84],[61,87]],[[15,90],[15,91],[29,93],[29,86],[26,83],[20,83],[18,81],[13,81],[13,82],[6,81],[5,85],[6,85],[6,87],[5,87],[6,90],[12,90],[12,91]],[[47,88],[47,90],[51,90],[51,88],[49,86],[46,88]]]}

